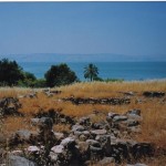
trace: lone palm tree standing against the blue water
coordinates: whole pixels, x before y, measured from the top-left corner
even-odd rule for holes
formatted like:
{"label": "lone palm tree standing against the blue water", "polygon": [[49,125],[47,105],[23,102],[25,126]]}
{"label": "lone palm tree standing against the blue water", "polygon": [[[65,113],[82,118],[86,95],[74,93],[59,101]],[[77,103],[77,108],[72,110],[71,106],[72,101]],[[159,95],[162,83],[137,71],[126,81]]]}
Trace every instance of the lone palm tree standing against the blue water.
{"label": "lone palm tree standing against the blue water", "polygon": [[84,68],[84,77],[90,79],[90,81],[95,80],[98,75],[98,69],[93,64],[90,63],[87,66]]}

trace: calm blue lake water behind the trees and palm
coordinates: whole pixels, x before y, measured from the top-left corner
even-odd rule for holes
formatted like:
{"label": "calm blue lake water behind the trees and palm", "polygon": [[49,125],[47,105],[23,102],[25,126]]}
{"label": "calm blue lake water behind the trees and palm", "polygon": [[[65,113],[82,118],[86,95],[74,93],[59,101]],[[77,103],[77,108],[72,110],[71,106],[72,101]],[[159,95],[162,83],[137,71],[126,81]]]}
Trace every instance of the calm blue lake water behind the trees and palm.
{"label": "calm blue lake water behind the trees and palm", "polygon": [[[51,62],[22,62],[19,63],[24,71],[33,73],[38,79],[44,77]],[[89,63],[68,63],[80,80],[84,81],[84,66]],[[103,79],[152,80],[166,79],[166,62],[100,62],[94,63],[98,68],[98,76]]]}

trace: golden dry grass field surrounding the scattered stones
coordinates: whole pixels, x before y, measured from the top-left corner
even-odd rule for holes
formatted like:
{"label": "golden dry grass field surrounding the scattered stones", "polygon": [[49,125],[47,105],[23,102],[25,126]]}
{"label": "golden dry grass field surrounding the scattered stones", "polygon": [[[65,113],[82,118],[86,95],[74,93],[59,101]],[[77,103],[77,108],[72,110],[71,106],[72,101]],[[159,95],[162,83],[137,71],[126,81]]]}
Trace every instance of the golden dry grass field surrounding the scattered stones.
{"label": "golden dry grass field surrounding the scattered stones", "polygon": [[[54,90],[54,89],[53,89]],[[81,117],[91,114],[94,110],[103,113],[115,112],[125,113],[132,108],[139,108],[142,111],[143,123],[142,133],[135,135],[135,139],[152,142],[155,144],[158,156],[156,159],[149,159],[147,163],[152,166],[164,165],[166,163],[166,96],[162,98],[147,98],[142,94],[144,91],[160,91],[166,92],[166,81],[144,81],[144,82],[92,82],[92,83],[76,83],[72,85],[61,86],[55,90],[62,91],[61,94],[54,94],[52,97],[48,97],[43,94],[42,90],[33,90],[38,92],[37,98],[20,98],[22,108],[20,112],[25,114],[24,117],[9,116],[1,124],[1,132],[9,136],[13,132],[20,128],[34,129],[30,125],[30,118],[32,114],[38,113],[40,108],[45,112],[49,108],[62,110],[62,113]],[[4,96],[19,96],[30,93],[31,89],[21,87],[1,87],[0,98]],[[135,92],[135,95],[131,97],[131,104],[126,105],[98,105],[98,104],[81,104],[73,105],[70,102],[62,102],[62,97],[69,97],[71,95],[79,97],[123,97],[121,92]],[[136,103],[135,101],[141,98],[143,103]],[[94,121],[101,121],[103,117],[96,117]],[[56,131],[69,131],[68,125],[54,125]],[[162,153],[163,151],[163,153]],[[162,156],[163,155],[163,156]]]}

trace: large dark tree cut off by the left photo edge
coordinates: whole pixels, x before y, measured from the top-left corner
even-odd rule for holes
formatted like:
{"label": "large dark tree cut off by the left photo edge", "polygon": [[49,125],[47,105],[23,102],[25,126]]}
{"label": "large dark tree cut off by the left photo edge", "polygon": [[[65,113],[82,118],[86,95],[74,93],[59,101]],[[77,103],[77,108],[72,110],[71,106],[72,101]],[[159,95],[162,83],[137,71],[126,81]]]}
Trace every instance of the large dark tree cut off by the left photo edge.
{"label": "large dark tree cut off by the left photo edge", "polygon": [[0,60],[0,84],[17,85],[19,80],[23,80],[23,71],[15,61],[8,59]]}

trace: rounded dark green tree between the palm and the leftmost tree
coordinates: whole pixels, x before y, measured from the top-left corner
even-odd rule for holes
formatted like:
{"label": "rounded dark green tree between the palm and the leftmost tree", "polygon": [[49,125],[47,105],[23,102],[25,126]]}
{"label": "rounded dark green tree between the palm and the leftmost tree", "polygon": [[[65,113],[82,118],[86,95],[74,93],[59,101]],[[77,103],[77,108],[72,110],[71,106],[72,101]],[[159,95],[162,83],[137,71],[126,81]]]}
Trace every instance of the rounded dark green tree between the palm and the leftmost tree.
{"label": "rounded dark green tree between the palm and the leftmost tree", "polygon": [[65,64],[52,65],[44,74],[50,87],[71,84],[77,81],[76,74]]}

